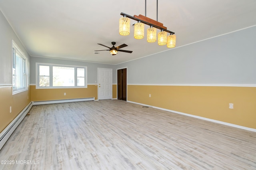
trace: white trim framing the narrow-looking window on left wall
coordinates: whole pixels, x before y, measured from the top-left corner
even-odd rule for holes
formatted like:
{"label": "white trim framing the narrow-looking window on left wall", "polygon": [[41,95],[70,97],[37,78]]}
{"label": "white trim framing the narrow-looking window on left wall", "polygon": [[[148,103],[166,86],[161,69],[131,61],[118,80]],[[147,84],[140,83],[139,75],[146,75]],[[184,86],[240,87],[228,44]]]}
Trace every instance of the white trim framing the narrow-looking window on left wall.
{"label": "white trim framing the narrow-looking window on left wall", "polygon": [[[18,55],[22,58],[22,83],[23,87],[20,89],[14,89],[14,83],[13,83],[13,65],[14,65],[14,50],[15,53],[18,53]],[[16,59],[16,56],[15,56]],[[23,66],[25,64],[25,67]],[[16,67],[16,66],[15,66]],[[28,58],[26,57],[25,53],[20,49],[20,47],[12,40],[12,95],[15,95],[17,93],[28,91]],[[25,73],[24,73],[25,69]],[[24,80],[25,79],[25,80]]]}

